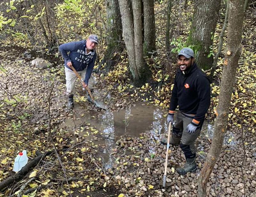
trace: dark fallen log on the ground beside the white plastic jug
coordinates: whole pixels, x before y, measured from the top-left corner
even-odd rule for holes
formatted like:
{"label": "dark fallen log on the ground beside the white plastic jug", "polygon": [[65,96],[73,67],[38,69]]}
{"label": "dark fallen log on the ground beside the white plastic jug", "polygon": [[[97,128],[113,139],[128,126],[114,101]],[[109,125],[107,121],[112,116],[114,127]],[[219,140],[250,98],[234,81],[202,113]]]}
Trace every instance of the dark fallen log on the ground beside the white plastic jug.
{"label": "dark fallen log on the ground beside the white plastic jug", "polygon": [[22,179],[28,172],[30,169],[34,168],[38,162],[44,158],[45,156],[48,156],[52,153],[54,153],[55,150],[51,150],[46,152],[45,154],[38,154],[37,152],[37,156],[29,163],[27,163],[17,174],[8,177],[7,179],[3,180],[2,182],[0,182],[0,191],[2,191],[4,188],[8,187],[9,185],[19,181],[20,179]]}

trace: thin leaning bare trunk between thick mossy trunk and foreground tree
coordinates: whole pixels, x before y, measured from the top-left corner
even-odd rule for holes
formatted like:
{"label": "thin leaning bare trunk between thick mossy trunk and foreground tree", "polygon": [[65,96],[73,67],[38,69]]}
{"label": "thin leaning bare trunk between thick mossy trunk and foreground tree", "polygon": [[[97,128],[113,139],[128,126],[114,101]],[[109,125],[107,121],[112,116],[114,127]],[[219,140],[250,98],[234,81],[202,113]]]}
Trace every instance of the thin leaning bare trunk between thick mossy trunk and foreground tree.
{"label": "thin leaning bare trunk between thick mossy trunk and foreground tree", "polygon": [[219,41],[218,51],[217,51],[217,53],[214,57],[214,61],[213,61],[213,64],[212,64],[212,70],[211,70],[211,75],[210,75],[210,82],[211,83],[212,83],[212,80],[213,80],[214,72],[216,70],[217,62],[218,62],[220,52],[221,52],[221,49],[222,49],[223,36],[224,36],[224,32],[227,28],[227,25],[228,25],[228,1],[226,2],[226,15],[225,15],[225,20],[224,20],[224,23],[223,23],[223,27],[222,27],[221,32],[220,32],[220,41]]}

